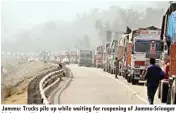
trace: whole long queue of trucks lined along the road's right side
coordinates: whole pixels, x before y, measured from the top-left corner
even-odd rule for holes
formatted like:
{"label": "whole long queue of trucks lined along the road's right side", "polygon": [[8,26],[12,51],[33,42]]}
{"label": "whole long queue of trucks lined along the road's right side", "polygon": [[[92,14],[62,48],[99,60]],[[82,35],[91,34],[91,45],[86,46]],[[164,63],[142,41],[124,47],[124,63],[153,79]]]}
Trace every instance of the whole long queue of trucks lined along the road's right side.
{"label": "whole long queue of trucks lined along the road's right side", "polygon": [[[170,104],[176,104],[176,26],[173,36],[168,38],[170,30],[169,17],[176,17],[176,3],[171,3],[166,14],[163,16],[162,27],[149,26],[135,30],[127,30],[121,36],[116,37],[102,45],[97,46],[95,50],[78,50],[72,52],[63,52],[58,58],[67,57],[72,63],[79,66],[102,68],[105,72],[115,74],[116,58],[119,60],[119,76],[124,77],[127,82],[136,85],[145,83],[143,72],[150,65],[150,58],[156,59],[156,65],[163,67],[166,57],[170,58],[169,78],[160,82],[158,98],[165,103],[169,99]],[[174,22],[172,22],[174,23]],[[107,37],[109,38],[109,37]],[[44,59],[47,55],[44,55]],[[60,60],[61,60],[60,59]]]}

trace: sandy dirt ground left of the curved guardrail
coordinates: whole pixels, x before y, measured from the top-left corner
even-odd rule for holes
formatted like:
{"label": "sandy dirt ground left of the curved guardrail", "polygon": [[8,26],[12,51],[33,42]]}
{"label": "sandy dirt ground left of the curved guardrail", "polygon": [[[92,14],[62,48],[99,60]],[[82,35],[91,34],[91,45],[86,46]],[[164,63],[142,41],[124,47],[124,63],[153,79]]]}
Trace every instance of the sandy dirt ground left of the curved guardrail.
{"label": "sandy dirt ground left of the curved guardrail", "polygon": [[2,61],[4,73],[1,75],[1,103],[27,104],[27,87],[39,73],[56,66],[40,61]]}

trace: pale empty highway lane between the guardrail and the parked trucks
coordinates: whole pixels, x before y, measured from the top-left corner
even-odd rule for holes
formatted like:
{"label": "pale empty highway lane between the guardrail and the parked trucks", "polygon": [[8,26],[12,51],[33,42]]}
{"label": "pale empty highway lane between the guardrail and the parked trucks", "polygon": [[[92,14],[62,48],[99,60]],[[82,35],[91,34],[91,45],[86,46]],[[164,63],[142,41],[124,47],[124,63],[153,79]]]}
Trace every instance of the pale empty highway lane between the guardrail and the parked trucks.
{"label": "pale empty highway lane between the guardrail and the parked trucks", "polygon": [[[54,104],[148,104],[146,87],[98,68],[69,65],[74,78]],[[58,96],[56,94],[55,96]],[[161,104],[155,95],[155,104]]]}

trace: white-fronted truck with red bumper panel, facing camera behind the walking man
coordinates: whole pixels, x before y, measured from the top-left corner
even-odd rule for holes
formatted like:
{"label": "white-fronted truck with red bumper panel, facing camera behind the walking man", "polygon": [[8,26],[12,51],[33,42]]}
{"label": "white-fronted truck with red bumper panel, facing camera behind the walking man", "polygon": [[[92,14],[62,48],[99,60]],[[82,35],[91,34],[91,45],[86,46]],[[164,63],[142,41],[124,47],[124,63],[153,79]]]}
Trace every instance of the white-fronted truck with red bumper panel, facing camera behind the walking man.
{"label": "white-fronted truck with red bumper panel, facing camera behind the walking man", "polygon": [[145,83],[142,72],[149,66],[149,59],[155,58],[159,65],[160,59],[160,33],[155,26],[139,28],[130,34],[132,43],[131,64],[128,65],[127,81],[132,84]]}

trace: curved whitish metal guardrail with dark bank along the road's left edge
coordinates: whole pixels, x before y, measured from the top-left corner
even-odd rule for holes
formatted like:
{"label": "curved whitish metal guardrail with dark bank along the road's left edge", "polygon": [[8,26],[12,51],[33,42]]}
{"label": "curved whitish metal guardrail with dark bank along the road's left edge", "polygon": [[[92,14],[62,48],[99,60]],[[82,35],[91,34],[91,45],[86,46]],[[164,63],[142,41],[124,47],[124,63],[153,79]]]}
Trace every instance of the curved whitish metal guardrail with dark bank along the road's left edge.
{"label": "curved whitish metal guardrail with dark bank along the road's left edge", "polygon": [[64,75],[63,67],[36,76],[28,85],[27,104],[49,104],[48,96]]}

